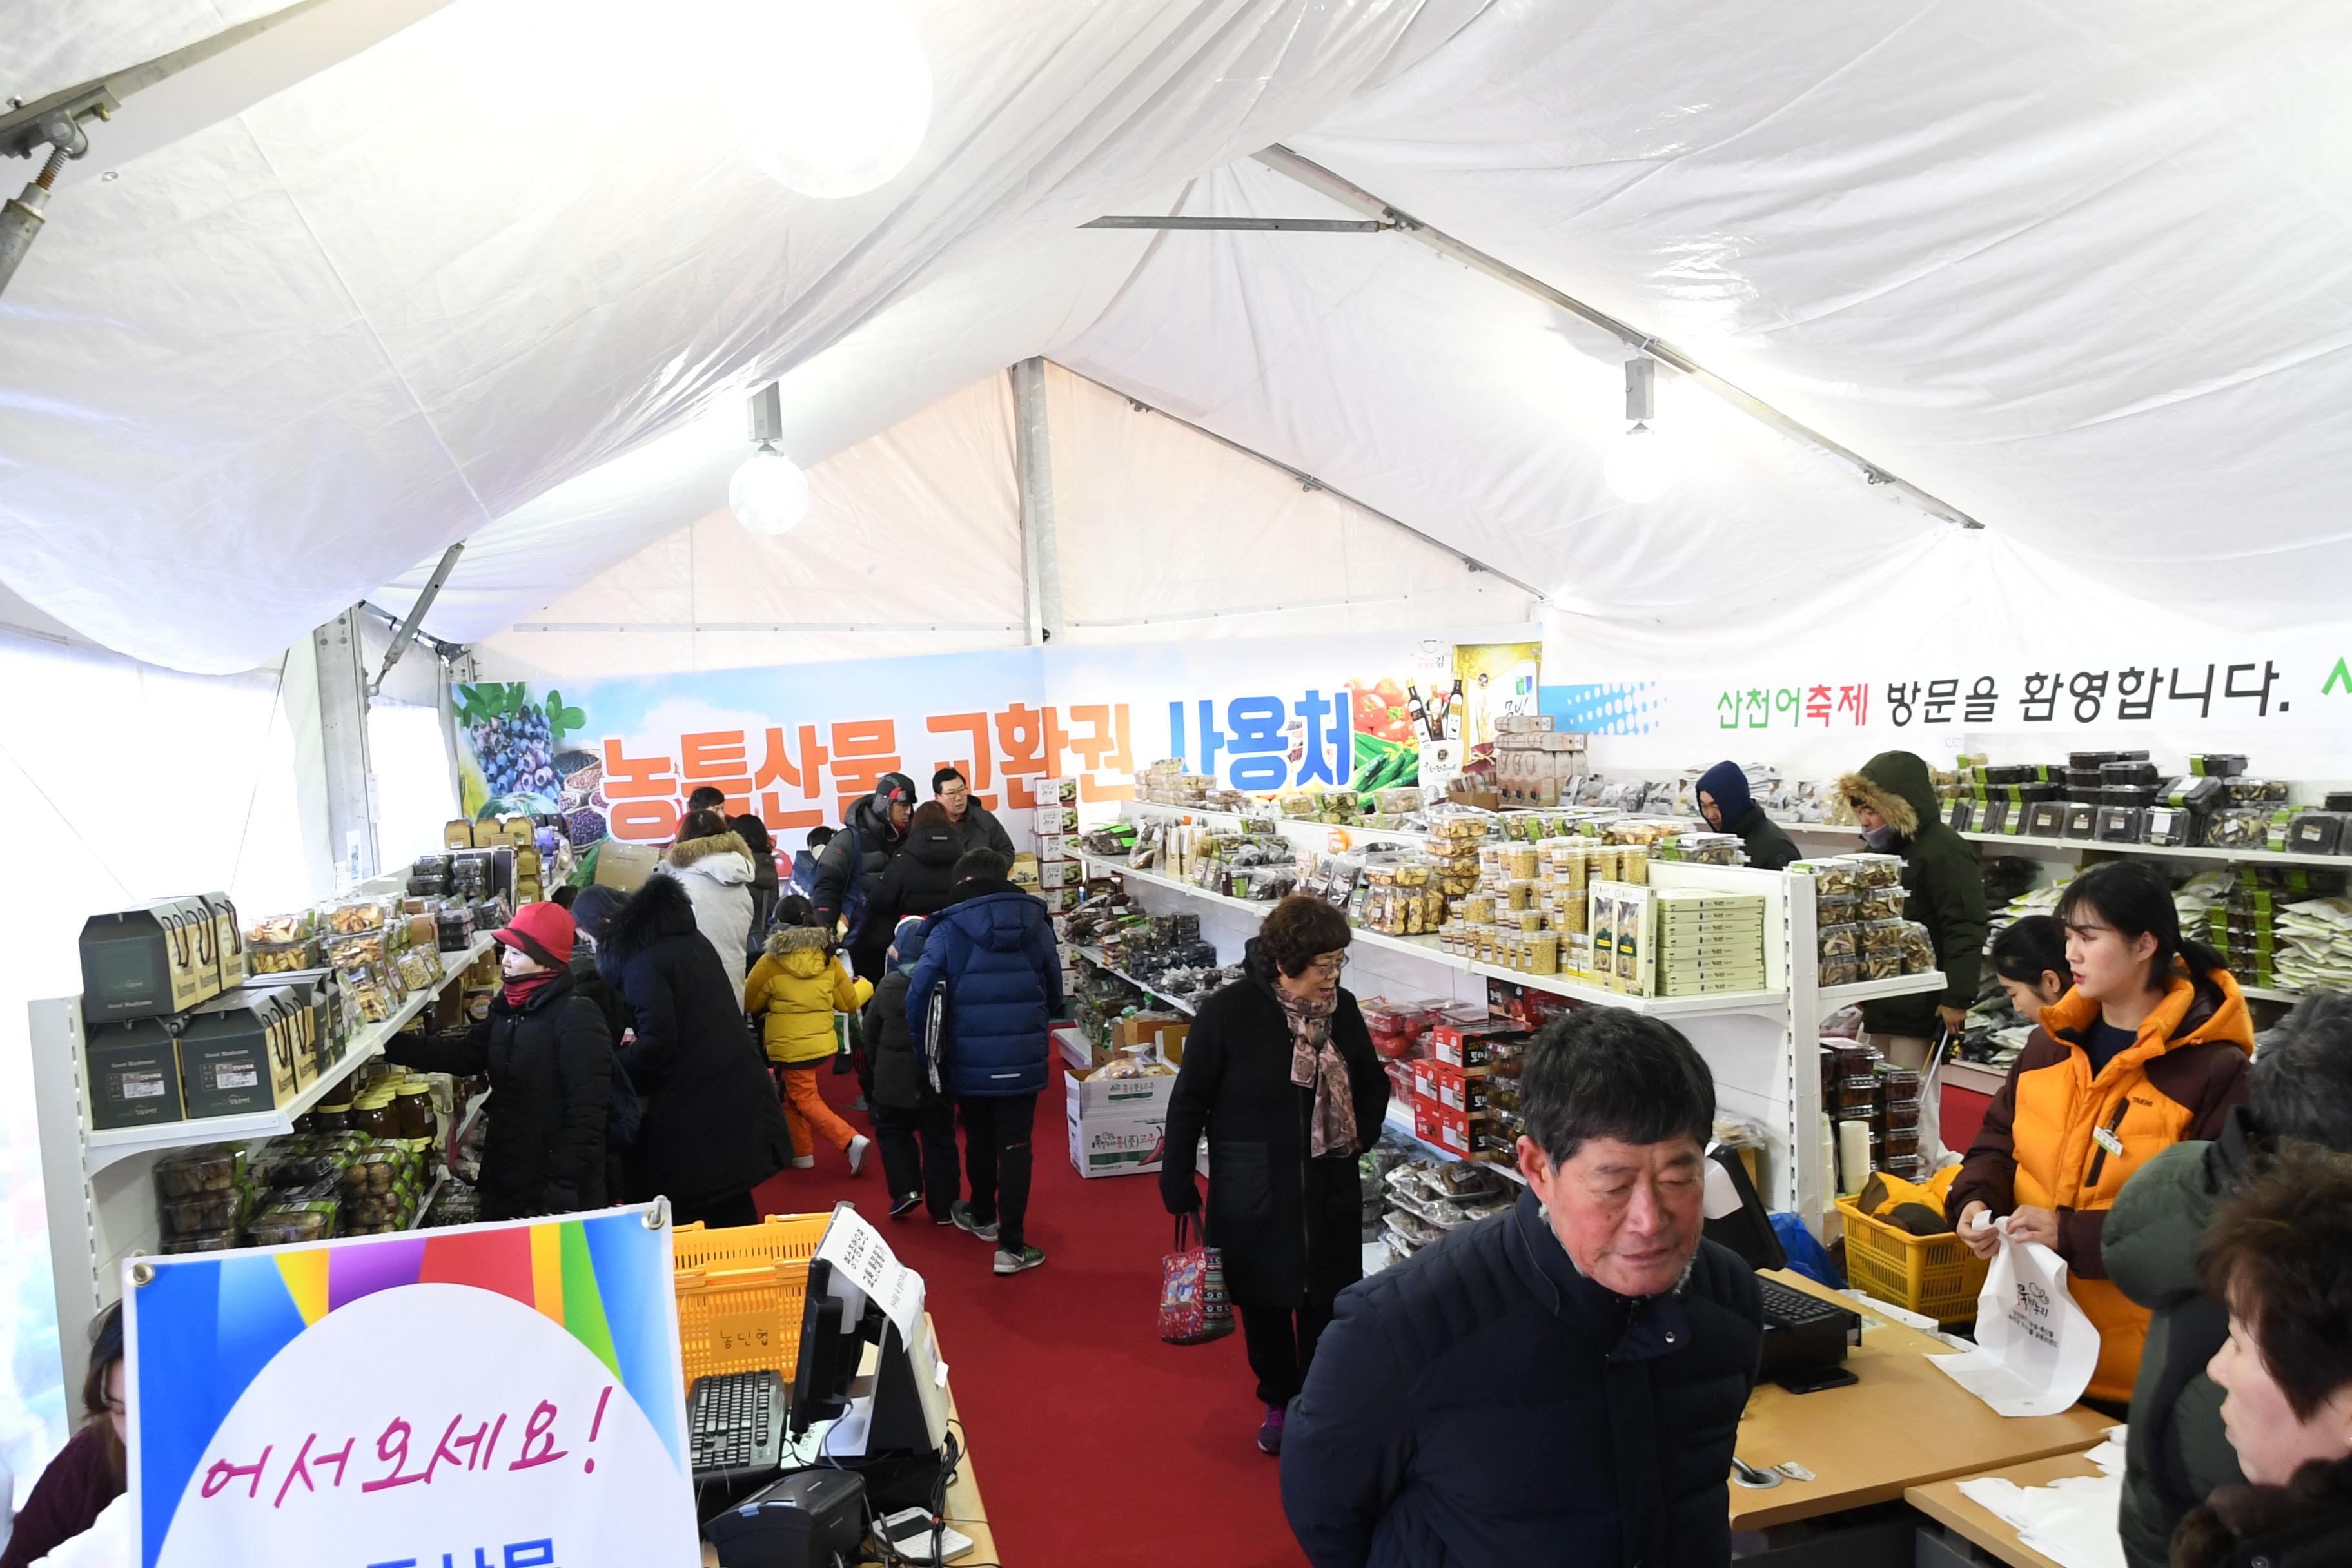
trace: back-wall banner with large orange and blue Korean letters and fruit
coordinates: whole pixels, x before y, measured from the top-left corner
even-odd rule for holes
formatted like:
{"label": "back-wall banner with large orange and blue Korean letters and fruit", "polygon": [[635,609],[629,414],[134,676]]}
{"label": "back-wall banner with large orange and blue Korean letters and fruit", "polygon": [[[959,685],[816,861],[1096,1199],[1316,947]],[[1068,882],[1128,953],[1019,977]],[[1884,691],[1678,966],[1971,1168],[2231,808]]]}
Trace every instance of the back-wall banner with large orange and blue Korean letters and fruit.
{"label": "back-wall banner with large orange and blue Korean letters and fruit", "polygon": [[[995,649],[562,684],[466,684],[468,816],[555,813],[574,846],[663,844],[696,788],[781,849],[840,823],[882,773],[929,797],[955,766],[1028,844],[1042,778],[1134,799],[1181,759],[1249,790],[1414,783],[1454,639],[1395,635]],[[1421,715],[1421,717],[1416,717]]]}

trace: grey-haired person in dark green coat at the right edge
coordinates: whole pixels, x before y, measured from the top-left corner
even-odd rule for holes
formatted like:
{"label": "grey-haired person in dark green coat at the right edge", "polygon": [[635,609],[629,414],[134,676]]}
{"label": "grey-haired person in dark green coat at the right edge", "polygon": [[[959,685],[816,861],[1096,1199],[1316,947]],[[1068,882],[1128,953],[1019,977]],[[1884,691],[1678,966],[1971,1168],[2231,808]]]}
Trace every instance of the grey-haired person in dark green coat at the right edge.
{"label": "grey-haired person in dark green coat at the right edge", "polygon": [[2223,1486],[2244,1486],[2206,1361],[2230,1338],[2230,1307],[2197,1279],[2197,1239],[2281,1143],[2352,1152],[2352,997],[2307,997],[2265,1037],[2251,1098],[2220,1138],[2176,1143],[2140,1166],[2107,1211],[2100,1260],[2147,1307],[2147,1347],[2131,1389],[2131,1439],[2117,1528],[2131,1568],[2164,1568],[2180,1519]]}

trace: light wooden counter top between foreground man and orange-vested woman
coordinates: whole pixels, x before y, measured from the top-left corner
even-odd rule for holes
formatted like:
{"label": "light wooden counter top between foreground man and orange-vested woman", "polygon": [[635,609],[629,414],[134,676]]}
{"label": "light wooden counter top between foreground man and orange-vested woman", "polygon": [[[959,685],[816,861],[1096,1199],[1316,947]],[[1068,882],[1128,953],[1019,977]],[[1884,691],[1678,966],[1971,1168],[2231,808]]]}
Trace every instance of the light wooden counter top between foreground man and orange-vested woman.
{"label": "light wooden counter top between foreground man and orange-vested woman", "polygon": [[[1802,1274],[1778,1272],[1771,1279],[1853,1307],[1851,1295]],[[1795,1460],[1813,1472],[1813,1481],[1764,1490],[1733,1483],[1731,1528],[1766,1530],[1893,1502],[1907,1488],[1945,1476],[1980,1476],[2025,1460],[2082,1453],[2114,1425],[2082,1406],[2060,1415],[1994,1415],[1926,1363],[1938,1354],[1952,1349],[1929,1333],[1863,1312],[1863,1342],[1846,1352],[1846,1371],[1858,1382],[1818,1394],[1757,1385],[1740,1418],[1738,1458],[1764,1469]]]}

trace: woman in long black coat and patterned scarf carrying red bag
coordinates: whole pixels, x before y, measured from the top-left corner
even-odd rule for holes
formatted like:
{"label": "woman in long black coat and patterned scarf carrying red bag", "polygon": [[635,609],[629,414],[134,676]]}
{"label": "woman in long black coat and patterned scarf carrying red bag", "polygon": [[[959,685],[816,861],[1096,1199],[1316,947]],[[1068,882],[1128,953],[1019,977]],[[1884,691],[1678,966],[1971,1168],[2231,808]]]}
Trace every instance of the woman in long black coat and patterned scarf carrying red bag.
{"label": "woman in long black coat and patterned scarf carrying red bag", "polygon": [[1200,1208],[1207,1133],[1209,1241],[1225,1253],[1265,1401],[1265,1453],[1282,1453],[1284,1408],[1334,1298],[1364,1276],[1355,1157],[1381,1135],[1388,1074],[1338,985],[1348,936],[1319,898],[1277,903],[1244,950],[1244,978],[1200,1004],[1169,1098],[1160,1199],[1176,1215]]}

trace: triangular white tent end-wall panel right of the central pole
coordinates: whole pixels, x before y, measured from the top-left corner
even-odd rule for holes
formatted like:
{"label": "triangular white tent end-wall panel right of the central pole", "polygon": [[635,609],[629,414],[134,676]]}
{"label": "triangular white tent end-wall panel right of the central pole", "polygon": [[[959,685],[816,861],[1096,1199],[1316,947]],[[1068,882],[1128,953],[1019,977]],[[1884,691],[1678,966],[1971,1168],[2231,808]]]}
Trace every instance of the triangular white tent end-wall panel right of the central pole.
{"label": "triangular white tent end-wall panel right of the central pole", "polygon": [[1047,411],[1070,642],[1484,625],[1531,609],[1451,550],[1058,364]]}

